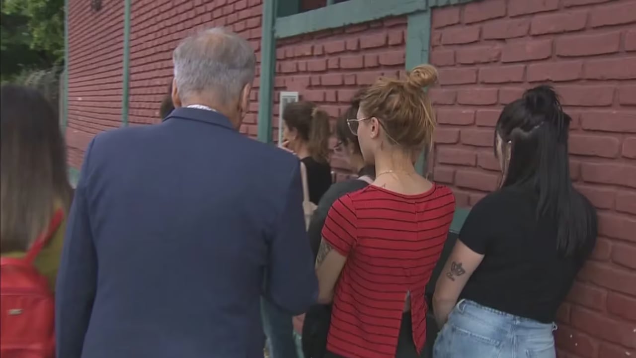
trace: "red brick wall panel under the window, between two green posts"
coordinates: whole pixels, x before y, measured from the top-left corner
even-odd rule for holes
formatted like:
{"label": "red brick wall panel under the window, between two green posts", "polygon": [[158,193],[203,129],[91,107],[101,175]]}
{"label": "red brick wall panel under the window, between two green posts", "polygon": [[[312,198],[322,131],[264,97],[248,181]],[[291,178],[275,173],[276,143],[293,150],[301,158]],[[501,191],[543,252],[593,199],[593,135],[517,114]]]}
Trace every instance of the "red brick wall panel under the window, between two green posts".
{"label": "red brick wall panel under the window, between two green posts", "polygon": [[[301,100],[337,117],[357,89],[404,71],[405,30],[405,17],[387,18],[278,41],[273,138],[278,139],[280,91],[298,91]],[[338,155],[331,166],[343,173],[349,169]]]}

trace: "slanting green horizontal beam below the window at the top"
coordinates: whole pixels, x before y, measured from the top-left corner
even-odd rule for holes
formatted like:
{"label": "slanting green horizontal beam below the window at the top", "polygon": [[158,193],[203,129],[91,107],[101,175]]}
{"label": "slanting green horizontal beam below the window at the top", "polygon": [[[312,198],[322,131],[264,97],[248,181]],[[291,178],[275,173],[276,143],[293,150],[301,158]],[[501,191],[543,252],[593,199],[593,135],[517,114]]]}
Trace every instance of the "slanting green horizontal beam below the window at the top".
{"label": "slanting green horizontal beam below the window at the top", "polygon": [[425,0],[349,0],[277,18],[275,34],[276,38],[288,38],[426,9],[427,2]]}

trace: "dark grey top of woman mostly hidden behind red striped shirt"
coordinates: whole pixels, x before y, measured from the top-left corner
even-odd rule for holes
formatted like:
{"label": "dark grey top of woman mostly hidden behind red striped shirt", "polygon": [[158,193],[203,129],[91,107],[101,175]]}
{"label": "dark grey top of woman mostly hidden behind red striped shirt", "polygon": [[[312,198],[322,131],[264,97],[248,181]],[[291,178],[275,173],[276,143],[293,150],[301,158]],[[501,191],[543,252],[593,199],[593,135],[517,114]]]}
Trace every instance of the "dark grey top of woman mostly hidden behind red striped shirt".
{"label": "dark grey top of woman mostly hidden behind red striped shirt", "polygon": [[[371,169],[369,169],[368,167],[363,168],[358,173],[358,176],[363,175],[368,175],[373,178],[373,176],[375,176],[373,167],[371,167]],[[327,219],[327,214],[329,213],[329,209],[331,209],[331,205],[333,205],[333,203],[335,203],[339,197],[349,192],[363,189],[367,185],[369,184],[364,180],[350,179],[331,185],[331,187],[329,187],[329,190],[324,193],[318,203],[318,207],[312,215],[312,219],[309,222],[309,228],[307,229],[307,234],[309,236],[309,245],[311,245],[312,251],[314,252],[314,260],[315,257],[318,255],[318,248],[320,247],[320,240],[322,238],[322,226],[324,226],[324,220]]]}

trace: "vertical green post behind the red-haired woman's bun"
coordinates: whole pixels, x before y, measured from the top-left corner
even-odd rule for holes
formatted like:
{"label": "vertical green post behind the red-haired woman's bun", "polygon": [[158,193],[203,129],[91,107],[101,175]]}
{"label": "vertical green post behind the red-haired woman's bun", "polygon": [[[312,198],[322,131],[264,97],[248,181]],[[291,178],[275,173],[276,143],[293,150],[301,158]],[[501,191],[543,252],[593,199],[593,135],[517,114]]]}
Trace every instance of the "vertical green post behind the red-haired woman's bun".
{"label": "vertical green post behind the red-haired woman's bun", "polygon": [[[431,42],[431,11],[410,13],[406,23],[406,71],[429,62]],[[415,162],[415,169],[421,175],[427,175],[427,157],[430,146],[427,145]]]}

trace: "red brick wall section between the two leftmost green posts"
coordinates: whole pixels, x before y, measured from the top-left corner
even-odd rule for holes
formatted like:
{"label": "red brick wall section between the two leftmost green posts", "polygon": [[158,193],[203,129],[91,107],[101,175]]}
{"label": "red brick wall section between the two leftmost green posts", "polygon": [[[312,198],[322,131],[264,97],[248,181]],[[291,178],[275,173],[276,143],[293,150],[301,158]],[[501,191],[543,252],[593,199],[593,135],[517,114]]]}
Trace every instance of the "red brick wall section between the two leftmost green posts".
{"label": "red brick wall section between the two leftmost green posts", "polygon": [[76,168],[90,139],[119,127],[123,1],[69,0],[69,118],[66,131],[69,164]]}

